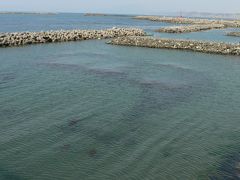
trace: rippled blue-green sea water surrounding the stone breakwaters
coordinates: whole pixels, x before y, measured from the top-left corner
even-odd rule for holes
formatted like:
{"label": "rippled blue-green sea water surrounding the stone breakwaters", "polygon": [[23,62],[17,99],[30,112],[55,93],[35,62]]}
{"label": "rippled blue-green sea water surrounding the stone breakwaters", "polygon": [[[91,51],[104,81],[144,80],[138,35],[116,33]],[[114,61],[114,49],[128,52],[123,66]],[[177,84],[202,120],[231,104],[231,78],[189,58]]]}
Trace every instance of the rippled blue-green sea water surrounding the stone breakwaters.
{"label": "rippled blue-green sea water surrounding the stone breakwaters", "polygon": [[[2,32],[167,25],[0,19]],[[0,63],[1,180],[239,179],[239,57],[90,40],[0,49]]]}

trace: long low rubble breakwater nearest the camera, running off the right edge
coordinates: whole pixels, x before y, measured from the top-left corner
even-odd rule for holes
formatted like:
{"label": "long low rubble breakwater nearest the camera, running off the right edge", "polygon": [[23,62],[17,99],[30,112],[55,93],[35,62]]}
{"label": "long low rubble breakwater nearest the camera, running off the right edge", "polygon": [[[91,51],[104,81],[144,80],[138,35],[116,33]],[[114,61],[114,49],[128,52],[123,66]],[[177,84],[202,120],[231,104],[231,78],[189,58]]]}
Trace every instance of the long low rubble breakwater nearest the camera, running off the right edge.
{"label": "long low rubble breakwater nearest the camera, running off the right edge", "polygon": [[123,46],[138,46],[148,48],[165,48],[191,50],[203,53],[240,55],[240,44],[217,43],[207,41],[162,39],[151,37],[119,37],[112,39],[109,44]]}

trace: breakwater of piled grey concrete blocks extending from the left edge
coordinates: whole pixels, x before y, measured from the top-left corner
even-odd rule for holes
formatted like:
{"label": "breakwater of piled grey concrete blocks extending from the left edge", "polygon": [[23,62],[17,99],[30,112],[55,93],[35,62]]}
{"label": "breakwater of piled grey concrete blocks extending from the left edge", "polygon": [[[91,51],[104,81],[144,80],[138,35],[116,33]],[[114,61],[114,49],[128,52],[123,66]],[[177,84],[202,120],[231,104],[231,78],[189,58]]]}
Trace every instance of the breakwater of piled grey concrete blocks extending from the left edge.
{"label": "breakwater of piled grey concrete blocks extending from the left edge", "polygon": [[136,28],[0,33],[0,47],[144,35],[145,32],[143,30]]}

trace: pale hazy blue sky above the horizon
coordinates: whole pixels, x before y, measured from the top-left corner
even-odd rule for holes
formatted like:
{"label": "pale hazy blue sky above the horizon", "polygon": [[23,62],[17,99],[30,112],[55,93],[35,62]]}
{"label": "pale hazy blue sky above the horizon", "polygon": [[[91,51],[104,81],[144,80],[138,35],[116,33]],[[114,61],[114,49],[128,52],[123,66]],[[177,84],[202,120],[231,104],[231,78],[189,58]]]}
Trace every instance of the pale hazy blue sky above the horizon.
{"label": "pale hazy blue sky above the horizon", "polygon": [[240,0],[0,0],[0,11],[158,14],[201,11],[240,13]]}

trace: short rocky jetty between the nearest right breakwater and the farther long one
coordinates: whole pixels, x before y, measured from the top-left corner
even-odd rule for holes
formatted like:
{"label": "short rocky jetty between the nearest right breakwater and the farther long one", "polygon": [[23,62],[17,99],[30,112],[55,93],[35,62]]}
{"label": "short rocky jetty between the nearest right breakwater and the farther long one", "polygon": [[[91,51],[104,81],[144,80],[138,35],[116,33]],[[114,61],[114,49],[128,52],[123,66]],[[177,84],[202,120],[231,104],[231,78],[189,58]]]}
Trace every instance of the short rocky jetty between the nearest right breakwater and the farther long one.
{"label": "short rocky jetty between the nearest right breakwater and the farther long one", "polygon": [[222,29],[223,24],[207,24],[207,25],[189,25],[189,26],[171,26],[157,29],[156,32],[164,33],[189,33],[198,31],[207,31],[211,29]]}

